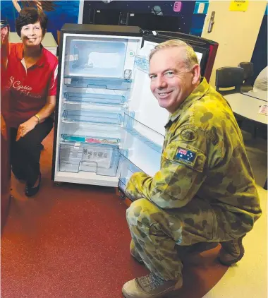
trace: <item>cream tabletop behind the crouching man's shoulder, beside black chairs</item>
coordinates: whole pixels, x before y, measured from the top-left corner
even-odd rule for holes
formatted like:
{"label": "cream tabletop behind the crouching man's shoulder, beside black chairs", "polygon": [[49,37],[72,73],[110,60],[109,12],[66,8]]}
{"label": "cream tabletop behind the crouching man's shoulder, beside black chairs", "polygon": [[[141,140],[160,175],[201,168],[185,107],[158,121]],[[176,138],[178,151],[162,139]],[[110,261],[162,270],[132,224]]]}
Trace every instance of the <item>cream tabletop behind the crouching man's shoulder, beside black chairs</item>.
{"label": "cream tabletop behind the crouching man's shoulder, beside black chairs", "polygon": [[[250,95],[250,96],[249,96]],[[251,96],[255,95],[255,97]],[[260,96],[260,94],[258,94]],[[255,93],[233,93],[224,95],[234,114],[267,126],[267,115],[259,114],[260,107],[267,105],[267,100],[257,98]]]}

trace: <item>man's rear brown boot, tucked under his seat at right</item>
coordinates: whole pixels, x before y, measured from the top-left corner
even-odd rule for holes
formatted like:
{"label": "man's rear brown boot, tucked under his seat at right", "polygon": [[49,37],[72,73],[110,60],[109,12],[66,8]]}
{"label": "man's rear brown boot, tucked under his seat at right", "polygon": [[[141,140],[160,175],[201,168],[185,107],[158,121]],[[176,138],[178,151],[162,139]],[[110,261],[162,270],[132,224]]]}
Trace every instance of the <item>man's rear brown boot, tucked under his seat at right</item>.
{"label": "man's rear brown boot, tucked under his seat at right", "polygon": [[[245,235],[243,236],[245,237]],[[233,239],[227,242],[221,242],[221,250],[219,251],[219,261],[226,266],[240,261],[243,258],[245,249],[242,244],[243,237]]]}

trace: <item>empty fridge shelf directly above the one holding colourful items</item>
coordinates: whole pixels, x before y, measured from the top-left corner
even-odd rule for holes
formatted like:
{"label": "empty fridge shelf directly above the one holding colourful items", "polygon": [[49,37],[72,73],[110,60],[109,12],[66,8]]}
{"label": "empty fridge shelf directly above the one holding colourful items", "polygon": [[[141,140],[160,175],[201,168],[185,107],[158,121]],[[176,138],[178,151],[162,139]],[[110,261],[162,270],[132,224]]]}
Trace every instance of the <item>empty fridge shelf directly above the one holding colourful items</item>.
{"label": "empty fridge shelf directly above the one holding colourful items", "polygon": [[65,109],[62,114],[62,121],[69,123],[82,122],[87,124],[121,126],[123,117],[119,113]]}

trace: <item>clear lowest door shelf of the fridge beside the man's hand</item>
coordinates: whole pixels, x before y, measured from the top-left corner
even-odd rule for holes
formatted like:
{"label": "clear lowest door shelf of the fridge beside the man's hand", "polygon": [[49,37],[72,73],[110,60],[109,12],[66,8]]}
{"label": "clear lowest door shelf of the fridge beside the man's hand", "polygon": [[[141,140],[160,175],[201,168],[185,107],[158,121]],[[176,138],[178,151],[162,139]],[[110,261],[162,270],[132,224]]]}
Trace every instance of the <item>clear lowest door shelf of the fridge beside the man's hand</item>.
{"label": "clear lowest door shelf of the fridge beside the man's hand", "polygon": [[[120,172],[119,172],[119,181],[118,188],[126,193],[126,186],[130,177],[136,172],[143,172],[139,167],[133,164],[124,154],[120,154]],[[129,194],[126,193],[129,197]]]}

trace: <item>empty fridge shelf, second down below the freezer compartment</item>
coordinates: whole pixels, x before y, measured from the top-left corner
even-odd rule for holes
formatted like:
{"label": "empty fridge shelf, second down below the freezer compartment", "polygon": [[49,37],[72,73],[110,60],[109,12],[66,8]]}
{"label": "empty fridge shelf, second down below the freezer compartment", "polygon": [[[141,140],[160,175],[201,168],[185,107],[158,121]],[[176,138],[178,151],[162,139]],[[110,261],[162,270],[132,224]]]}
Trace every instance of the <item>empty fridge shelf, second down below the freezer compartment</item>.
{"label": "empty fridge shelf, second down below the freezer compartment", "polygon": [[64,102],[68,104],[83,103],[87,105],[123,106],[126,102],[126,97],[123,95],[66,92]]}

